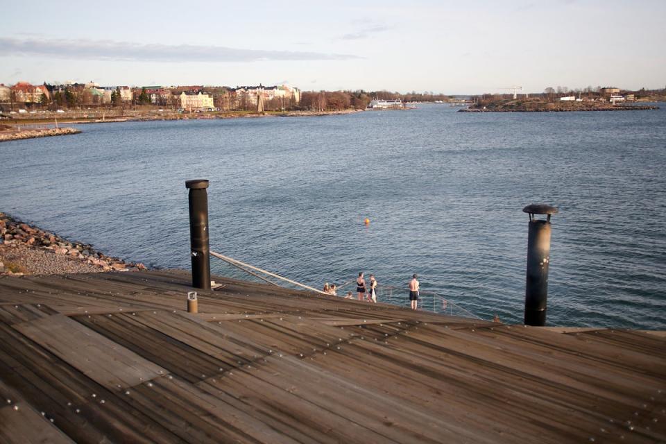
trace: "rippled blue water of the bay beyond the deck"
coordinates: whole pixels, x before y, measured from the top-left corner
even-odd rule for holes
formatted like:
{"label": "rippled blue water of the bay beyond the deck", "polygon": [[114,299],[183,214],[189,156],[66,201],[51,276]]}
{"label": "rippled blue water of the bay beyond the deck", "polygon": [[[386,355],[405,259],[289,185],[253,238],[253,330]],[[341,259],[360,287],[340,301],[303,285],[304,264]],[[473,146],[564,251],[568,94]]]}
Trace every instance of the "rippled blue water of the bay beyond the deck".
{"label": "rippled blue water of the bay beyond the deck", "polygon": [[213,250],[317,287],[361,270],[398,285],[419,273],[423,289],[520,322],[521,210],[550,203],[560,213],[549,325],[666,329],[664,109],[422,105],[79,128],[0,144],[0,211],[111,255],[185,268],[185,180],[207,178]]}

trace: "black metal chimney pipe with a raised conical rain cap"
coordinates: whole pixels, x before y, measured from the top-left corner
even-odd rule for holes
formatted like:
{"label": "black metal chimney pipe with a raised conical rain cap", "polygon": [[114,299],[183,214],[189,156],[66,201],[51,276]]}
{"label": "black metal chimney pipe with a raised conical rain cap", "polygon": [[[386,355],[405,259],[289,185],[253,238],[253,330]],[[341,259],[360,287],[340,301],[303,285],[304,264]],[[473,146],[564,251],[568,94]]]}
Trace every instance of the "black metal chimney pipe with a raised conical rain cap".
{"label": "black metal chimney pipe with a raised conical rain cap", "polygon": [[[550,216],[557,208],[545,204],[527,205],[522,209],[529,214],[527,234],[527,278],[525,282],[525,325],[546,325],[548,296],[548,266],[550,264]],[[546,214],[546,219],[536,219]]]}

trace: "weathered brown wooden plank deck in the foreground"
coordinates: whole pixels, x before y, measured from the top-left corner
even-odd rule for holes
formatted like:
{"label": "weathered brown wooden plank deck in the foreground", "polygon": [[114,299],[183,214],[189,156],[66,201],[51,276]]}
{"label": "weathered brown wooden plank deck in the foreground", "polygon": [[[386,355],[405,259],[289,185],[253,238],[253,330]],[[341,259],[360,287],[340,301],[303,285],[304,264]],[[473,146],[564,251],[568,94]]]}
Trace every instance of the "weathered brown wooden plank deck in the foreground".
{"label": "weathered brown wooden plank deck in the foreground", "polygon": [[666,441],[663,336],[215,279],[0,278],[0,442]]}

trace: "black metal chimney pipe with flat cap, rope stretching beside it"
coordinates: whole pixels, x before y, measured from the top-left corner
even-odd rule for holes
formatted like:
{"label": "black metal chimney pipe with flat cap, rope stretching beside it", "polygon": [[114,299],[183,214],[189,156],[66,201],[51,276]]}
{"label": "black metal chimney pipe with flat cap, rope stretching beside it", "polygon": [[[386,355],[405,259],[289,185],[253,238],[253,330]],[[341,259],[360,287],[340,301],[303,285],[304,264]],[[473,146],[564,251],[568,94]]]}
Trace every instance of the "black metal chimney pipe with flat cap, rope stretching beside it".
{"label": "black metal chimney pipe with flat cap, rope stretching beside it", "polygon": [[187,180],[189,189],[189,242],[192,259],[192,287],[210,290],[210,247],[208,244],[208,181]]}

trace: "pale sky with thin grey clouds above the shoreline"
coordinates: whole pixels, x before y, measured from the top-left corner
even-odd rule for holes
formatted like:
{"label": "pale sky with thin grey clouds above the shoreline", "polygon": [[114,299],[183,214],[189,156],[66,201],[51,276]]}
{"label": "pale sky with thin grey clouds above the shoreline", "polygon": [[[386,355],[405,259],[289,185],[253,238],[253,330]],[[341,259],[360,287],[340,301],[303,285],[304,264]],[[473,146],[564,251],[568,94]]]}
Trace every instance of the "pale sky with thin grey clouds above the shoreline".
{"label": "pale sky with thin grey clouds above the shoreline", "polygon": [[0,83],[666,85],[665,0],[0,0]]}

